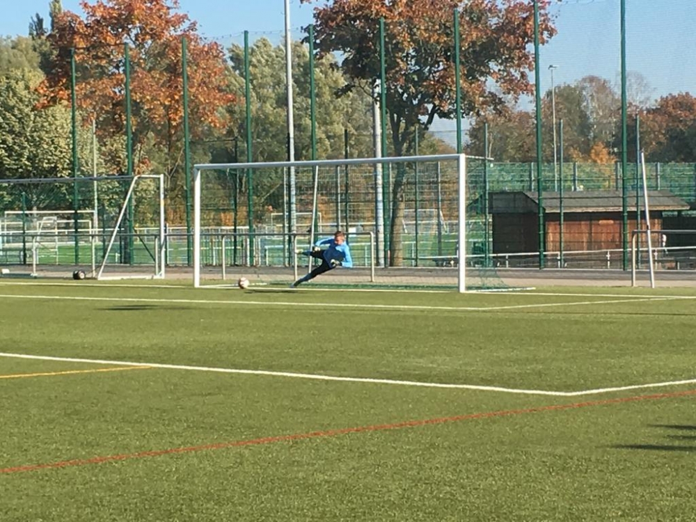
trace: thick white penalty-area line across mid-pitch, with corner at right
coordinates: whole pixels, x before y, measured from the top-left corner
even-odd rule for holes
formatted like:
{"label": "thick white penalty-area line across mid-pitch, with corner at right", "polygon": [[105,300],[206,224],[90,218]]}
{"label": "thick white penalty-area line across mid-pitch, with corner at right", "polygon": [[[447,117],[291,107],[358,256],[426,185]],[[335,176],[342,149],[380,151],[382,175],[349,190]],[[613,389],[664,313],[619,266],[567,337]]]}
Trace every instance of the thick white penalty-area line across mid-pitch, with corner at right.
{"label": "thick white penalty-area line across mid-pitch, with corner at right", "polygon": [[477,386],[474,384],[451,384],[451,383],[432,383],[418,381],[397,381],[394,379],[369,379],[366,377],[337,377],[334,375],[322,374],[306,374],[294,372],[271,372],[268,370],[240,370],[235,368],[220,368],[207,366],[189,366],[175,364],[159,364],[159,363],[134,363],[130,361],[105,361],[102,359],[84,359],[73,357],[52,357],[38,356],[28,354],[7,354],[0,352],[0,357],[33,359],[37,361],[59,361],[63,363],[87,363],[100,365],[120,365],[129,367],[148,367],[160,368],[163,370],[189,370],[196,372],[216,372],[228,374],[244,374],[244,375],[263,375],[267,377],[286,377],[290,379],[312,379],[316,381],[340,381],[352,383],[368,383],[368,384],[389,384],[397,386],[416,386],[420,388],[448,388],[455,390],[477,390],[477,391],[494,391],[502,393],[513,393],[516,395],[553,395],[555,397],[576,397],[578,395],[592,395],[601,393],[611,393],[623,390],[638,390],[640,388],[662,388],[665,386],[678,386],[680,384],[696,383],[696,379],[687,379],[683,381],[668,381],[661,383],[637,384],[634,386],[619,386],[617,388],[596,388],[594,390],[581,390],[575,392],[555,392],[548,390],[523,390],[516,388],[503,388],[500,386]]}

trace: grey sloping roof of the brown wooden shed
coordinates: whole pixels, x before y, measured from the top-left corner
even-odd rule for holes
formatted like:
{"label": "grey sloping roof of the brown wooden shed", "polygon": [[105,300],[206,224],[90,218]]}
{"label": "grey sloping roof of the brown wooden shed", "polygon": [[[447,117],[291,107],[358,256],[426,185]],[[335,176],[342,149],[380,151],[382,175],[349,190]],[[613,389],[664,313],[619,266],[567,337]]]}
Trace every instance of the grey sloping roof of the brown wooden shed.
{"label": "grey sloping roof of the brown wooden shed", "polygon": [[[560,212],[560,193],[543,192],[544,212]],[[640,193],[640,207],[643,207]],[[635,212],[635,191],[628,197],[628,211]],[[685,200],[666,190],[649,190],[648,205],[651,210],[688,210]],[[491,213],[537,212],[539,193],[532,191],[491,193]],[[622,212],[623,195],[619,190],[569,191],[563,193],[563,212]]]}

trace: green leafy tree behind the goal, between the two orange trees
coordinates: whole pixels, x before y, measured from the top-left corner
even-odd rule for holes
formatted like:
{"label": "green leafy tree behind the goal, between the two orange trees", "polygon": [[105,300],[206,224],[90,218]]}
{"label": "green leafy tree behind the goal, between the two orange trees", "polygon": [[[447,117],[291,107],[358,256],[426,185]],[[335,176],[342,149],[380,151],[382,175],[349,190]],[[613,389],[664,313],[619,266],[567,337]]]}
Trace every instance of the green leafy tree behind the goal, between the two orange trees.
{"label": "green leafy tree behind the goal, between the two orange trees", "polygon": [[[244,48],[232,45],[229,50],[232,64],[233,92],[244,98]],[[310,73],[308,46],[292,44],[294,92],[295,159],[311,157]],[[256,40],[249,52],[249,81],[251,85],[251,117],[253,161],[284,161],[287,159],[287,90],[285,79],[285,48],[274,46],[266,38]],[[315,62],[317,158],[332,159],[345,155],[344,130],[348,130],[352,157],[372,156],[371,98],[352,93],[337,99],[336,93],[345,85],[345,78],[331,56]],[[230,119],[238,122],[228,132],[227,152],[216,155],[220,161],[232,161],[235,145],[246,159],[246,113],[244,104],[230,106]],[[230,141],[232,139],[232,141]],[[242,189],[246,191],[244,180]],[[283,206],[282,173],[256,177],[254,208],[256,219],[265,212]]]}

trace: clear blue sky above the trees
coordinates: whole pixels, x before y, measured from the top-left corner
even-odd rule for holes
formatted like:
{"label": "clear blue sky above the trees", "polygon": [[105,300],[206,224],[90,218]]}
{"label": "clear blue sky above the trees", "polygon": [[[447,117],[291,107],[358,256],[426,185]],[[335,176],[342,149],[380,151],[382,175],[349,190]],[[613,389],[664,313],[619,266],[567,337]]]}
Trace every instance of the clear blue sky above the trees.
{"label": "clear blue sky above the trees", "polygon": [[[418,1],[418,0],[413,0]],[[31,16],[47,17],[49,0],[0,0],[0,35],[26,34]],[[312,21],[313,6],[290,1],[295,38]],[[696,95],[696,0],[626,0],[627,68],[649,84],[649,95],[690,91]],[[541,50],[541,86],[551,88],[548,65],[557,65],[555,85],[595,74],[618,81],[619,0],[564,0],[552,8],[558,35]],[[180,7],[199,24],[202,35],[225,45],[241,43],[243,31],[280,42],[285,26],[284,0],[180,0]],[[63,8],[82,13],[79,0]],[[442,125],[448,127],[448,122]],[[445,128],[443,127],[443,128]]]}

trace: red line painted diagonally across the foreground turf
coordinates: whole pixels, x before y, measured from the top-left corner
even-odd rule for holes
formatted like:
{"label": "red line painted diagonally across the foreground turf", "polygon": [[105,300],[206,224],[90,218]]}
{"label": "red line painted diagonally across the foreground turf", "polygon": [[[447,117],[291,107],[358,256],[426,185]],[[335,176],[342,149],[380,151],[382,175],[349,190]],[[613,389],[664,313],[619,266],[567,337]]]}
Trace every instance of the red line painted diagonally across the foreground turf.
{"label": "red line painted diagonally across the foreground turf", "polygon": [[207,450],[220,450],[223,448],[238,448],[240,446],[251,446],[251,445],[261,445],[270,444],[277,442],[289,442],[289,441],[299,441],[306,438],[325,438],[333,437],[338,435],[346,435],[351,433],[363,433],[363,432],[381,432],[388,429],[402,429],[418,426],[427,426],[434,424],[444,424],[445,422],[460,422],[462,420],[475,420],[484,418],[494,418],[494,417],[508,417],[515,415],[523,415],[525,413],[541,413],[544,411],[560,411],[569,410],[577,408],[587,408],[590,406],[604,406],[607,404],[622,404],[626,402],[638,402],[646,400],[661,400],[661,399],[671,399],[674,397],[687,397],[690,395],[696,395],[696,390],[686,390],[674,393],[658,393],[653,395],[636,395],[634,397],[622,397],[619,399],[606,399],[598,401],[588,401],[588,402],[575,402],[573,404],[551,404],[548,406],[537,406],[536,408],[525,408],[517,410],[500,410],[500,411],[488,411],[482,413],[468,413],[466,415],[457,415],[452,417],[441,417],[432,418],[425,420],[406,420],[405,422],[396,422],[393,424],[383,424],[383,425],[373,425],[373,426],[358,426],[352,428],[340,428],[340,429],[329,429],[323,432],[310,432],[303,434],[293,434],[293,435],[278,435],[263,438],[251,438],[246,441],[232,441],[223,442],[216,444],[205,444],[199,446],[189,446],[184,448],[170,448],[168,450],[152,450],[144,451],[139,453],[125,453],[120,455],[109,455],[106,457],[93,457],[91,459],[74,459],[65,460],[58,462],[51,462],[48,464],[31,464],[27,466],[15,466],[13,468],[1,468],[0,473],[22,473],[24,471],[35,471],[42,469],[52,469],[52,468],[68,468],[71,466],[87,466],[88,464],[102,464],[103,462],[111,461],[123,461],[130,459],[143,459],[145,457],[161,457],[162,455],[176,454],[176,453],[192,453],[198,451]]}

